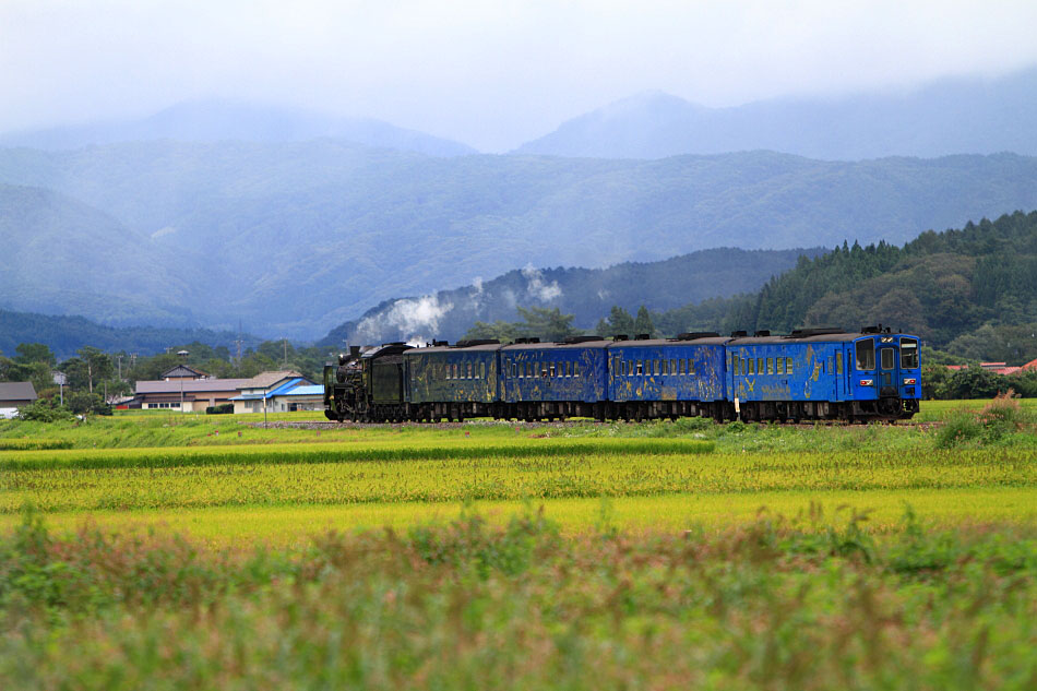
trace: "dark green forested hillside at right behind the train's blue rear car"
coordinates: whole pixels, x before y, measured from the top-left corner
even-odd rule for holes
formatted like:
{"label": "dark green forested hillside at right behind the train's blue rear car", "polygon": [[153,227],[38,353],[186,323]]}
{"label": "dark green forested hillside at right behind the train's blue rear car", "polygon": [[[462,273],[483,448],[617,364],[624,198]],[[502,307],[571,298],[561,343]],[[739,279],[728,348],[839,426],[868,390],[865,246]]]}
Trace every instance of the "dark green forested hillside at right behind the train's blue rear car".
{"label": "dark green forested hillside at right behind the train's blue rear car", "polygon": [[930,230],[903,247],[844,245],[755,295],[656,315],[668,332],[880,322],[967,357],[1037,357],[1037,212]]}

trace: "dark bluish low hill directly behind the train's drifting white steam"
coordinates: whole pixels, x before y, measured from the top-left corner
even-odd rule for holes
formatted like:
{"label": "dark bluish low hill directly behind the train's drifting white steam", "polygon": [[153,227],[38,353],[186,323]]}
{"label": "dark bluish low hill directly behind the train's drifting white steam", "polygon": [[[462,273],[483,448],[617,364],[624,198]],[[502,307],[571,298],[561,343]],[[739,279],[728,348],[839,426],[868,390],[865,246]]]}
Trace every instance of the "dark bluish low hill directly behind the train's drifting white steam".
{"label": "dark bluish low hill directly behind the train's drifting white steam", "polygon": [[360,319],[333,329],[318,342],[342,348],[391,341],[456,341],[476,321],[514,321],[516,307],[557,307],[591,327],[613,305],[636,311],[642,305],[668,310],[688,302],[750,293],[792,269],[809,250],[703,250],[660,262],[624,262],[608,269],[534,269],[510,271],[434,295],[385,302]]}

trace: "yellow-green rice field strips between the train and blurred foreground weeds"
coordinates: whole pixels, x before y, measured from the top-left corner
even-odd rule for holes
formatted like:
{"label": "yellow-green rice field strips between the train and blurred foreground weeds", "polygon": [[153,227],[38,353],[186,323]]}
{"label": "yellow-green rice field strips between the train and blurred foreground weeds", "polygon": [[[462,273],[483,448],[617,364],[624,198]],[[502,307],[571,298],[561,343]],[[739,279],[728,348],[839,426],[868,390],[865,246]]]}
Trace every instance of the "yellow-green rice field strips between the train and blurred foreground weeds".
{"label": "yellow-green rice field strips between the train and blurred foreground weeds", "polygon": [[[926,402],[942,420],[988,402]],[[1029,402],[1022,415],[1034,410]],[[947,446],[942,424],[830,426],[589,421],[320,426],[320,413],[121,414],[87,424],[0,425],[0,529],[25,505],[56,527],[158,527],[206,543],[302,544],[327,528],[402,528],[474,505],[510,515],[531,503],[565,531],[684,529],[795,516],[811,504],[869,513],[881,532],[914,508],[927,521],[1035,520],[1030,428]],[[2,448],[2,446],[0,446]]]}

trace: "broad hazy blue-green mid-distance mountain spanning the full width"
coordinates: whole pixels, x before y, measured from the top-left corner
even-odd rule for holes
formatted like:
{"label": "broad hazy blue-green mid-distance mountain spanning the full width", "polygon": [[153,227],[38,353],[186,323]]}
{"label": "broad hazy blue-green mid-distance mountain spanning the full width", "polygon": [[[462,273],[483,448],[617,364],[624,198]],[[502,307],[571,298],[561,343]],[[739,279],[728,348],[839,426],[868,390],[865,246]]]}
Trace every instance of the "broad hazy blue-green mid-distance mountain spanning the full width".
{"label": "broad hazy blue-green mid-distance mountain spanning the full width", "polygon": [[[4,242],[20,248],[0,254],[0,274],[31,285],[7,284],[9,309],[129,324],[155,323],[151,310],[175,305],[190,325],[236,330],[241,320],[295,338],[516,266],[901,242],[1037,209],[1037,158],[1011,154],[443,158],[341,140],[162,141],[0,150],[0,182],[50,192],[0,206]],[[62,309],[70,295],[90,299]]]}

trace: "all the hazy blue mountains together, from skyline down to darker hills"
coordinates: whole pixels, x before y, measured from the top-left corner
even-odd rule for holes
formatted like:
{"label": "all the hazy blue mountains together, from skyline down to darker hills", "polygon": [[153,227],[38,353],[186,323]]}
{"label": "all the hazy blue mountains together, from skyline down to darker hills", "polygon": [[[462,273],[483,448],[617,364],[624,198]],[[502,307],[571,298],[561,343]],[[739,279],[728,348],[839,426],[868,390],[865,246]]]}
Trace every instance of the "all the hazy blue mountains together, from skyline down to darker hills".
{"label": "all the hazy blue mountains together, from skyline down to darker hills", "polygon": [[[315,338],[522,267],[904,242],[1037,207],[1028,155],[868,158],[1037,154],[1035,74],[725,110],[642,95],[510,155],[219,100],[9,134],[0,308]],[[759,150],[810,146],[847,160]],[[696,147],[741,153],[669,155]]]}

